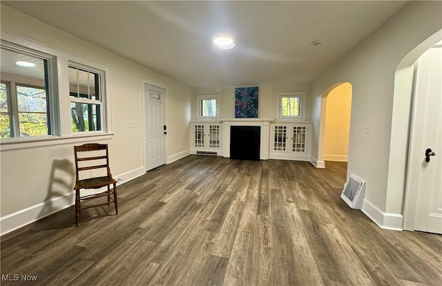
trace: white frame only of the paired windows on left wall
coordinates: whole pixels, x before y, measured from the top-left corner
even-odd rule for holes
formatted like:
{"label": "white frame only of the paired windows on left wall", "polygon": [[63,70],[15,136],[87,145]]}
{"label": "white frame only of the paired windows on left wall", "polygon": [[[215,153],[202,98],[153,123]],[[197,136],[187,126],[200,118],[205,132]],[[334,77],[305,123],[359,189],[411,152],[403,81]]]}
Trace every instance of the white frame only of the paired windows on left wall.
{"label": "white frame only of the paired windows on left wall", "polygon": [[[40,44],[37,41],[25,39],[18,35],[2,31],[1,46],[10,48],[24,48],[35,50],[38,53],[50,55],[50,72],[53,78],[49,80],[50,122],[51,135],[32,137],[10,137],[0,140],[0,150],[28,149],[39,146],[57,144],[81,143],[90,140],[106,140],[113,137],[111,117],[111,69],[102,64],[71,55],[64,51]],[[17,50],[19,51],[19,50]],[[99,70],[101,77],[102,93],[102,126],[101,131],[72,132],[72,117],[70,115],[69,75],[68,65],[75,63],[92,70]],[[3,80],[3,82],[7,82]]]}

